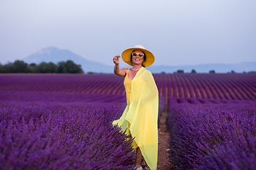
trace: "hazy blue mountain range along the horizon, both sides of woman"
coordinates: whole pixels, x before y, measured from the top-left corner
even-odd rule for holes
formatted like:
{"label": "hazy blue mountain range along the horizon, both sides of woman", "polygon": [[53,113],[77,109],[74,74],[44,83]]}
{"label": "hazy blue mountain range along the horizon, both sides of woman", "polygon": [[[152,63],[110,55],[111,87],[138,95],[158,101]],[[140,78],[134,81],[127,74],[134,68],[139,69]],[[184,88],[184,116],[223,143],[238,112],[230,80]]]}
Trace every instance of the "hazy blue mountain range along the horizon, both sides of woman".
{"label": "hazy blue mountain range along the horizon, both sides of woman", "polygon": [[[39,64],[41,62],[53,62],[57,64],[61,61],[72,60],[75,64],[80,64],[84,72],[97,72],[97,73],[113,73],[113,67],[102,64],[100,62],[92,62],[87,60],[80,55],[76,55],[74,52],[69,50],[58,49],[57,47],[48,47],[33,55],[29,55],[24,58],[23,61],[31,64]],[[111,60],[111,59],[110,59]],[[129,66],[128,66],[129,67]],[[180,66],[167,66],[160,65],[147,67],[152,73],[173,73],[177,72],[178,69],[182,69],[184,72],[191,72],[195,69],[198,73],[208,73],[210,70],[214,70],[216,73],[227,73],[232,70],[235,72],[251,72],[256,71],[256,62],[242,62],[239,64],[198,64],[198,65],[180,65]]]}

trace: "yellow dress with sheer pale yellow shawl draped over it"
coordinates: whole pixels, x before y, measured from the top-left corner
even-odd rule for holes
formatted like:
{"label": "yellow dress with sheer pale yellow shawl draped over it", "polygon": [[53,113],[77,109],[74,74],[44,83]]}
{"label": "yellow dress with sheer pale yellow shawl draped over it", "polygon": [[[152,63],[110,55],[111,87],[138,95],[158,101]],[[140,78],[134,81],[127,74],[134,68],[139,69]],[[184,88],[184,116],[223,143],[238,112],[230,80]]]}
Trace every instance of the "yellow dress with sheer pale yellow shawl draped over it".
{"label": "yellow dress with sheer pale yellow shawl draped over it", "polygon": [[[128,71],[129,72],[129,71]],[[128,74],[124,78],[127,93],[127,107],[119,120],[119,125],[127,135],[132,134],[133,148],[139,147],[150,169],[156,169],[158,149],[158,105],[159,94],[151,72],[144,67],[139,69],[132,80]]]}

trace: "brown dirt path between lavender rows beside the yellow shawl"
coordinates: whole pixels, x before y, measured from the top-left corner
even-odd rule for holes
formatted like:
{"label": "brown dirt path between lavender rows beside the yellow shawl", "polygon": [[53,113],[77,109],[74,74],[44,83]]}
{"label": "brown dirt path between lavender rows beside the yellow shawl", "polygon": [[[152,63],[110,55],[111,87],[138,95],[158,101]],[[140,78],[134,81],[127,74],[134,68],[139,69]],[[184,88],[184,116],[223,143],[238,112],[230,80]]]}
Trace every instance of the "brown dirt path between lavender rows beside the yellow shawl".
{"label": "brown dirt path between lavender rows beside the yellow shawl", "polygon": [[167,170],[169,167],[169,132],[166,130],[166,117],[167,112],[162,113],[159,125],[159,145],[158,145],[158,159],[157,159],[157,169]]}

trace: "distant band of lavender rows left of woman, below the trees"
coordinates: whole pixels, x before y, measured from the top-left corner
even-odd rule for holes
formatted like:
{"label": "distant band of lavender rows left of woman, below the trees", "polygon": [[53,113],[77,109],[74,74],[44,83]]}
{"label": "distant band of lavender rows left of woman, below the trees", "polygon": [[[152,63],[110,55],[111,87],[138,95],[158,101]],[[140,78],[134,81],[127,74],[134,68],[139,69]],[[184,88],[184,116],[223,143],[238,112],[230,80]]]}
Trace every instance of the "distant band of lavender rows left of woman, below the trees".
{"label": "distant band of lavender rows left of woman, below the trees", "polygon": [[114,74],[1,74],[0,89],[124,95],[123,81]]}

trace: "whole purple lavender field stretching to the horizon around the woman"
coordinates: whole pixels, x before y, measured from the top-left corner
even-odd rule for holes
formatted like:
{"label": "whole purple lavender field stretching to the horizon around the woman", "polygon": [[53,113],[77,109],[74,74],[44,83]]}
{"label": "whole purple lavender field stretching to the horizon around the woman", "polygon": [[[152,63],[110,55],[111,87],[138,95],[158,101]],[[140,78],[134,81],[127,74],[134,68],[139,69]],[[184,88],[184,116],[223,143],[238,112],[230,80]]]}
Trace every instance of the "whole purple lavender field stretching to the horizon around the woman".
{"label": "whole purple lavender field stretching to the horizon around the woman", "polygon": [[[255,169],[256,74],[154,74],[170,169]],[[133,169],[114,74],[1,74],[0,169]]]}

